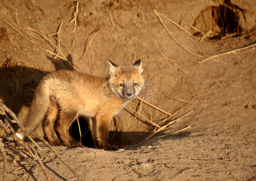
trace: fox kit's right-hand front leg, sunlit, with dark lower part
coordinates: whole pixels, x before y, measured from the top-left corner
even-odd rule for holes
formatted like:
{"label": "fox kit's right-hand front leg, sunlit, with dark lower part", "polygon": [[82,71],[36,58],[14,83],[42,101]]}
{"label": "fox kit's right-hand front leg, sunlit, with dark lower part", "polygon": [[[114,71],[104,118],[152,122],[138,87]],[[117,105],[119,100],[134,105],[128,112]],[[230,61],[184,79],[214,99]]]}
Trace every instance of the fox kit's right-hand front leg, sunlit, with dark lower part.
{"label": "fox kit's right-hand front leg, sunlit, with dark lower part", "polygon": [[97,144],[100,149],[117,150],[116,146],[108,143],[108,127],[110,125],[112,116],[98,114],[96,116],[96,124],[92,129],[93,139],[97,139]]}

